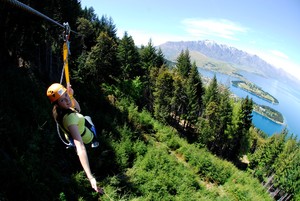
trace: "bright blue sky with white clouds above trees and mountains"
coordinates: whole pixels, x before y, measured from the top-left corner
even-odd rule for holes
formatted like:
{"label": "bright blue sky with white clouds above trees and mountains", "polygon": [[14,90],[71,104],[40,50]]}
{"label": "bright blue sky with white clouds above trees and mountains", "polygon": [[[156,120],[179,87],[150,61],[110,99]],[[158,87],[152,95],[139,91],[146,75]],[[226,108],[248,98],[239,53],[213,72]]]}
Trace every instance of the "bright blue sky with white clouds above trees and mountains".
{"label": "bright blue sky with white clouds above trees and mountains", "polygon": [[81,0],[98,17],[111,17],[122,38],[213,40],[256,54],[300,79],[299,0]]}

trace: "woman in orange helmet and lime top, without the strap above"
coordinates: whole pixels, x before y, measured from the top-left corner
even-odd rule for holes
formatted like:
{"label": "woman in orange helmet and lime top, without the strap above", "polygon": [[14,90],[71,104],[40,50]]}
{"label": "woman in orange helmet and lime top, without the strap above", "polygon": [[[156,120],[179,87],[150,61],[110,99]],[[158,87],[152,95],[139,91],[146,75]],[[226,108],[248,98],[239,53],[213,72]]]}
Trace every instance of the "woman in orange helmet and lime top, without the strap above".
{"label": "woman in orange helmet and lime top, without the strap above", "polygon": [[97,186],[97,181],[91,172],[87,151],[84,145],[91,143],[91,146],[95,148],[99,143],[96,141],[93,130],[86,125],[88,120],[79,113],[80,106],[75,98],[73,98],[73,89],[69,87],[67,90],[63,85],[54,83],[48,88],[47,96],[53,104],[52,113],[55,121],[64,131],[66,138],[71,144],[76,146],[80,163],[92,188],[102,194],[103,190]]}

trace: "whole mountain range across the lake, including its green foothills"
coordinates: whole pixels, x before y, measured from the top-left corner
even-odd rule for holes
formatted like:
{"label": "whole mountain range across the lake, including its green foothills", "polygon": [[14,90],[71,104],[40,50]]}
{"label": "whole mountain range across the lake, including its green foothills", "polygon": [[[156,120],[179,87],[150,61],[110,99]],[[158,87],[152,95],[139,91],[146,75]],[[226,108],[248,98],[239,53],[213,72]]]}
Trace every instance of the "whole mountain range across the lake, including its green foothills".
{"label": "whole mountain range across the lake, including its green foothills", "polygon": [[197,67],[222,73],[247,71],[264,77],[300,85],[300,81],[281,68],[276,68],[257,55],[211,40],[166,42],[158,46],[166,59],[176,62],[181,51],[188,50]]}

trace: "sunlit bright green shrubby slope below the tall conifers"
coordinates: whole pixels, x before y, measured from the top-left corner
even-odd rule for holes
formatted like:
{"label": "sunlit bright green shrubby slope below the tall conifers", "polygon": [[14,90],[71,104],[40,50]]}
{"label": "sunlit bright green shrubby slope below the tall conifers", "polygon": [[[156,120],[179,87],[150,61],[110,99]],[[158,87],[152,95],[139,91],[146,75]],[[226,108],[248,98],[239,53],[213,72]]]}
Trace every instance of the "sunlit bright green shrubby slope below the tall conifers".
{"label": "sunlit bright green shrubby slope below the tall conifers", "polygon": [[[133,106],[119,107],[128,108],[129,121],[138,128],[134,132],[147,144],[137,151],[125,173],[128,200],[272,200],[251,175],[188,144],[147,112],[138,112]],[[117,196],[110,185],[106,188],[111,189],[110,196]]]}

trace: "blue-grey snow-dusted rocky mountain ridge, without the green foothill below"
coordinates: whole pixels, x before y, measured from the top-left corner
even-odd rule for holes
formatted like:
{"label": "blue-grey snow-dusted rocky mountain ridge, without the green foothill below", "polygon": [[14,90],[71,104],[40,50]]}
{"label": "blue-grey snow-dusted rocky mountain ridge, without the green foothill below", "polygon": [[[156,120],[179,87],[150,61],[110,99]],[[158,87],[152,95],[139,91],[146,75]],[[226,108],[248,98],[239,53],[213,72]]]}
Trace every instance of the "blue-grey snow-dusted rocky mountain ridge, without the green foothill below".
{"label": "blue-grey snow-dusted rocky mountain ridge, without the green foothill below", "polygon": [[202,55],[202,58],[191,57],[192,60],[201,60],[204,55],[207,58],[233,65],[237,70],[249,70],[251,72],[262,74],[263,76],[272,76],[272,78],[275,79],[292,80],[291,77],[293,77],[286,71],[267,63],[257,55],[249,54],[243,50],[225,44],[218,44],[213,40],[169,41],[159,45],[159,47],[166,59],[173,62],[176,61],[177,56],[182,50],[188,49],[190,52],[198,52],[198,55]]}

